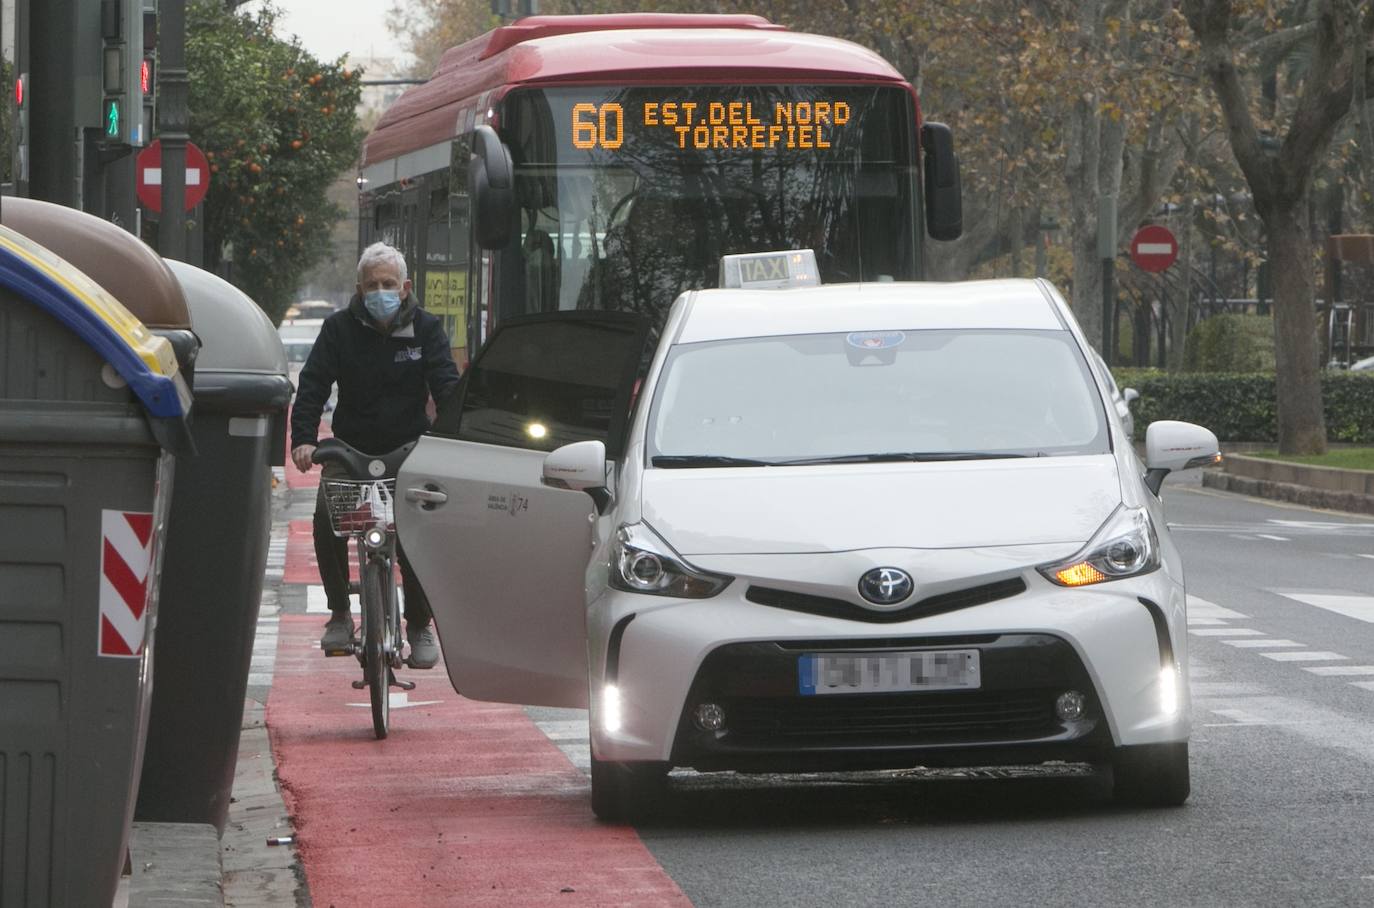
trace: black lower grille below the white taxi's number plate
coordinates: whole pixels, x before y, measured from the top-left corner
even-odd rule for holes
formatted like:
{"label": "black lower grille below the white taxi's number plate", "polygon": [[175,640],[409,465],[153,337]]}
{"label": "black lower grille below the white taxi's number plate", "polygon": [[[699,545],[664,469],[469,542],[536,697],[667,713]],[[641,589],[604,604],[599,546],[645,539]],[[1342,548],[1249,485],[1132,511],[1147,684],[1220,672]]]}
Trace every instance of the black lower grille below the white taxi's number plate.
{"label": "black lower grille below the white taxi's number plate", "polygon": [[730,738],[749,745],[943,745],[1059,734],[1052,690],[739,698]]}

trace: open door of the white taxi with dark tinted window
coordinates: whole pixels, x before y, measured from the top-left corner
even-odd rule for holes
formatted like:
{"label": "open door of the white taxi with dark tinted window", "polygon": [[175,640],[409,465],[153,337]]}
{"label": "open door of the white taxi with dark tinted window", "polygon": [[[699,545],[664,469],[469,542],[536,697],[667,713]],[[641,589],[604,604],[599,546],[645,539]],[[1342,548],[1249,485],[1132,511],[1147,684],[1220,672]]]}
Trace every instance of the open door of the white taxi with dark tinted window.
{"label": "open door of the white taxi with dark tinted window", "polygon": [[508,319],[401,467],[397,533],[464,696],[587,706],[595,504],[543,464],[574,441],[621,456],[646,332],[621,312]]}

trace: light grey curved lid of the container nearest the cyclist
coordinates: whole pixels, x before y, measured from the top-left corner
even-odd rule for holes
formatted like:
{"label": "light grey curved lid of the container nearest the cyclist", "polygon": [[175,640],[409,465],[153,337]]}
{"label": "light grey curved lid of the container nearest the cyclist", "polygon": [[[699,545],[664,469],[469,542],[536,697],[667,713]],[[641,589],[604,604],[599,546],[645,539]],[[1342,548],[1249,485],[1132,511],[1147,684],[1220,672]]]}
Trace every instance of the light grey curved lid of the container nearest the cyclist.
{"label": "light grey curved lid of the container nearest the cyclist", "polygon": [[170,258],[166,265],[181,284],[191,310],[191,327],[201,338],[201,353],[195,360],[196,375],[287,374],[282,338],[262,308],[247,294],[195,265]]}

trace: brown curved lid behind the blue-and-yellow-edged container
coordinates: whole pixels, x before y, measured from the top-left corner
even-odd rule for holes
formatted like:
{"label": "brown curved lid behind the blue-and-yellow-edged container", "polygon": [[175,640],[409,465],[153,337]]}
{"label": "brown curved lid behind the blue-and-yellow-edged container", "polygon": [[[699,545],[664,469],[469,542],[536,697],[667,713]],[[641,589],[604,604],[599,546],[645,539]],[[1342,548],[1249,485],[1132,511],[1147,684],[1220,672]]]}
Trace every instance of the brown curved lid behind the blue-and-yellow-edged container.
{"label": "brown curved lid behind the blue-and-yellow-edged container", "polygon": [[181,284],[133,234],[85,212],[23,198],[4,199],[0,224],[85,272],[150,328],[191,330]]}

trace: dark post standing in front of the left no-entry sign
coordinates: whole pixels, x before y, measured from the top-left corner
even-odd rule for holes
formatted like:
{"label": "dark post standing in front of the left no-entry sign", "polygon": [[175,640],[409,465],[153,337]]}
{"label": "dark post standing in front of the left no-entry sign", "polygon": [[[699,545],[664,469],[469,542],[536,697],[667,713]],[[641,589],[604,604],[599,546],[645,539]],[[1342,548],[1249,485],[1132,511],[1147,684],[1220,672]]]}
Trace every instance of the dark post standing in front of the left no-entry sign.
{"label": "dark post standing in front of the left no-entry sign", "polygon": [[185,70],[185,0],[158,8],[158,137],[162,140],[162,220],[158,251],[185,261],[185,143],[191,139],[191,78]]}

